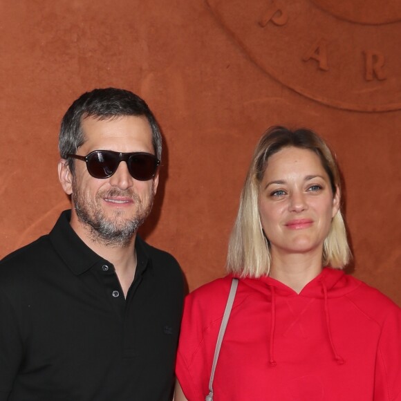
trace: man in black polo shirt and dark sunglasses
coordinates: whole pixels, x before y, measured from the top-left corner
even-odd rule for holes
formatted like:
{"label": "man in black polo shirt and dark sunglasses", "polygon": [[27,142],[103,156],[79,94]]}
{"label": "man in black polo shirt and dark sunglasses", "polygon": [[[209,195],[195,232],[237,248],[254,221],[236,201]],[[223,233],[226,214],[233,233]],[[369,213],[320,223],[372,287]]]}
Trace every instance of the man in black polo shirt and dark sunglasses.
{"label": "man in black polo shirt and dark sunglasses", "polygon": [[170,400],[183,277],[136,234],[158,124],[137,95],[95,89],[64,115],[59,150],[71,211],[0,263],[0,401]]}

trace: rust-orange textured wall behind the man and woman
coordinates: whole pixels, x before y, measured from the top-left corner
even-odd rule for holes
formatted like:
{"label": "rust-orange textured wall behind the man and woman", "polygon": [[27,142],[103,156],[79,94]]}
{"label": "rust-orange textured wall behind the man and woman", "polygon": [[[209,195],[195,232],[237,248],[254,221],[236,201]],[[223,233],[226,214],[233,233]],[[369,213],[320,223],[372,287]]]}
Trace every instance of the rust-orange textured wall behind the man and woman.
{"label": "rust-orange textured wall behind the man and woman", "polygon": [[252,151],[283,124],[335,149],[351,272],[401,305],[400,42],[390,0],[1,0],[0,257],[68,208],[59,121],[84,91],[116,86],[162,125],[162,185],[142,233],[190,289],[224,274]]}

